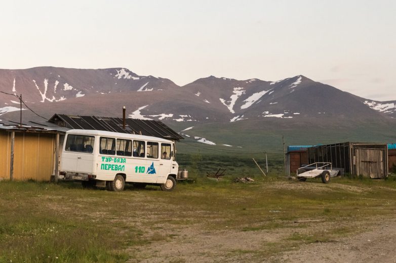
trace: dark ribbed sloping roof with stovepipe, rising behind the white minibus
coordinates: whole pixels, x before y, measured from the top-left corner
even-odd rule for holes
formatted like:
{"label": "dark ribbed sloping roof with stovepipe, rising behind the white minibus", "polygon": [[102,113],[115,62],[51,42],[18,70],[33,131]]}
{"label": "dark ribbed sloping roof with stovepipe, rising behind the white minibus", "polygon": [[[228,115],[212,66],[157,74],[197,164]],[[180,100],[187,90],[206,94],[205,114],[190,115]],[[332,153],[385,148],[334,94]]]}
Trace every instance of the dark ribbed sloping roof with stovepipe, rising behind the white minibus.
{"label": "dark ribbed sloping roof with stovepipe, rising behind the white minibus", "polygon": [[160,137],[168,140],[184,139],[177,132],[160,121],[126,119],[123,129],[123,119],[113,117],[79,116],[55,114],[48,122],[70,129],[100,130],[146,136]]}

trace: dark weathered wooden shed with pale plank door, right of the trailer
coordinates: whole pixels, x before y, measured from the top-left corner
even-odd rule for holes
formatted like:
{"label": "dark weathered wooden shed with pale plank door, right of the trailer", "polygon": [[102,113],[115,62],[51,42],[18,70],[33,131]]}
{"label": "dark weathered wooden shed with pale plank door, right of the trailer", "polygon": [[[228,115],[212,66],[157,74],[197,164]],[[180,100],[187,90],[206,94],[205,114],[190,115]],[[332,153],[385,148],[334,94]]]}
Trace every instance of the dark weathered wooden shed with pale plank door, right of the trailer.
{"label": "dark weathered wooden shed with pale plank door, right of the trailer", "polygon": [[386,143],[343,142],[308,148],[309,163],[331,162],[351,175],[385,178],[388,175]]}

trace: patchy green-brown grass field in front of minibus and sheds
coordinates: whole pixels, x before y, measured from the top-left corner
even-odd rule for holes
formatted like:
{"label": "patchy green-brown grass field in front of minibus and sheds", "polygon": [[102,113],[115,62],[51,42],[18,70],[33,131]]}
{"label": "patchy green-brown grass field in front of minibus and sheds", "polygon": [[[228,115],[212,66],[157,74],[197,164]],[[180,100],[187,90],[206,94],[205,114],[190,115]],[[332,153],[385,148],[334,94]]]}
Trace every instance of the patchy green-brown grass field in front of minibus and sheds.
{"label": "patchy green-brown grass field in front of minibus and sheds", "polygon": [[393,177],[256,179],[119,193],[3,181],[0,262],[255,262],[365,231],[396,208]]}

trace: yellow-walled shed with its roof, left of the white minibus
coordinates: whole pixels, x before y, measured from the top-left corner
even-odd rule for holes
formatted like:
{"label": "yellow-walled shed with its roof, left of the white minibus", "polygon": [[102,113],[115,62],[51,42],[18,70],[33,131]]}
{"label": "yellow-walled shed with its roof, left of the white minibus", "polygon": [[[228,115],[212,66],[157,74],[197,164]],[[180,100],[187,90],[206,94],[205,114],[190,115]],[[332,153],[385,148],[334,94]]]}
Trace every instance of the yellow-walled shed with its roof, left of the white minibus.
{"label": "yellow-walled shed with its roof, left of the white minibus", "polygon": [[50,181],[64,128],[0,124],[0,180]]}

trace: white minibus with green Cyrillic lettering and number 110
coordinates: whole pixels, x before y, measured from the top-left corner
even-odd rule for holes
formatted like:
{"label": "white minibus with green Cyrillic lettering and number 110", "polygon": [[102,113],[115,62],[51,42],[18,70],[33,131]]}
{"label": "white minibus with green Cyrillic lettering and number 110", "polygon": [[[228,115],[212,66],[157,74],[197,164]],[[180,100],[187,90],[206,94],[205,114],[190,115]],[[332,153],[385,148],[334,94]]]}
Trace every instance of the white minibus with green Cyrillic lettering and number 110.
{"label": "white minibus with green Cyrillic lettering and number 110", "polygon": [[173,141],[143,135],[98,130],[69,130],[62,147],[60,178],[83,186],[122,191],[125,182],[135,187],[176,186],[179,166]]}

